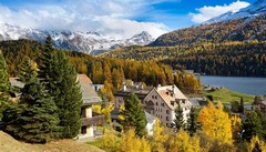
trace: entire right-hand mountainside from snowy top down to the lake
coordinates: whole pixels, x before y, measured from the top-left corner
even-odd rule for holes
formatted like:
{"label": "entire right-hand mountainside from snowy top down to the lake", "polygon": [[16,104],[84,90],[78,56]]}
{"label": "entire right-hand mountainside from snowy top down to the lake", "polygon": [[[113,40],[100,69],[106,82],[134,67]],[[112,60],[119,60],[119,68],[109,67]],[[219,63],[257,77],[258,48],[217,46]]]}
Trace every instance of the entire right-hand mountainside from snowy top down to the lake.
{"label": "entire right-hand mountainside from snowy top down to the lake", "polygon": [[103,55],[156,60],[176,70],[212,75],[266,77],[266,0],[226,12],[200,26],[158,37],[149,47],[116,49]]}

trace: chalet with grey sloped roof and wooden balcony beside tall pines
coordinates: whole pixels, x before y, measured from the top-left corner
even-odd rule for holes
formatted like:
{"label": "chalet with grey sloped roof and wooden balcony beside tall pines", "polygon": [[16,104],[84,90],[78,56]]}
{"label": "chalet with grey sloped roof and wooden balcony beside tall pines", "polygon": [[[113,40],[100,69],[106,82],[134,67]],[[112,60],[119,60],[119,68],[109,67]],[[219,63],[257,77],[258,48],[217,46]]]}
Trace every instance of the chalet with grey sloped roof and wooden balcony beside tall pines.
{"label": "chalet with grey sloped roof and wooden balcony beside tall pines", "polygon": [[104,122],[104,115],[99,115],[92,112],[93,104],[101,104],[102,100],[91,87],[92,81],[86,74],[78,75],[80,89],[82,93],[82,109],[81,109],[81,134],[79,139],[94,136],[94,126]]}

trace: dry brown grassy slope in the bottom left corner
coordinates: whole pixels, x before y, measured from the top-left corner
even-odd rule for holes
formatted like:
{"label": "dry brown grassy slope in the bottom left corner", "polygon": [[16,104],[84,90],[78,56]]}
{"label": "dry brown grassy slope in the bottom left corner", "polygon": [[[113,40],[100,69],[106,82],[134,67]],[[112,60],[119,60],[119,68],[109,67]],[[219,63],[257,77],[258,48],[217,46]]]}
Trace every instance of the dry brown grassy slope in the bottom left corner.
{"label": "dry brown grassy slope in the bottom left corner", "polygon": [[1,152],[103,152],[93,145],[79,143],[73,140],[53,141],[47,144],[29,144],[14,140],[0,131]]}

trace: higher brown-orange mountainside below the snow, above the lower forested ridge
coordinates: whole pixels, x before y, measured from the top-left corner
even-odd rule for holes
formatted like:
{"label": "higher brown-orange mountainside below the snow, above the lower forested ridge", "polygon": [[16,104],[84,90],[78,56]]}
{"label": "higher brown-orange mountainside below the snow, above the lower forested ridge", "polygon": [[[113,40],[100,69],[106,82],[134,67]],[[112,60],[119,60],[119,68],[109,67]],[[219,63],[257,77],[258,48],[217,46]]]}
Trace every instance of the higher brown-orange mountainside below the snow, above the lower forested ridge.
{"label": "higher brown-orange mountainside below the snow, above the lower forested ridge", "polygon": [[180,29],[165,33],[150,45],[198,45],[228,41],[266,40],[266,14],[257,18],[242,18],[212,24]]}

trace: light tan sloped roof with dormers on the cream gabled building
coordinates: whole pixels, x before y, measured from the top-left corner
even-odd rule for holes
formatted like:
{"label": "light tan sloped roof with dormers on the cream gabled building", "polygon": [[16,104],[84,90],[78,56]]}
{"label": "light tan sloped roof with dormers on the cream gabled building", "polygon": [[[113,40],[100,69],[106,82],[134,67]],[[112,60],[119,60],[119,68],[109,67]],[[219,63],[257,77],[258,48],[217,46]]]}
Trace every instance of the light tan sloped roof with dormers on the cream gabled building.
{"label": "light tan sloped roof with dormers on the cream gabled building", "polygon": [[[174,91],[173,91],[174,90]],[[165,103],[171,109],[176,109],[177,104],[171,104],[171,102],[175,101],[183,101],[185,103],[180,102],[181,107],[192,107],[192,103],[187,100],[187,98],[181,92],[181,90],[176,85],[165,85],[165,87],[157,87],[155,91],[160,94],[160,97],[165,101]]]}

